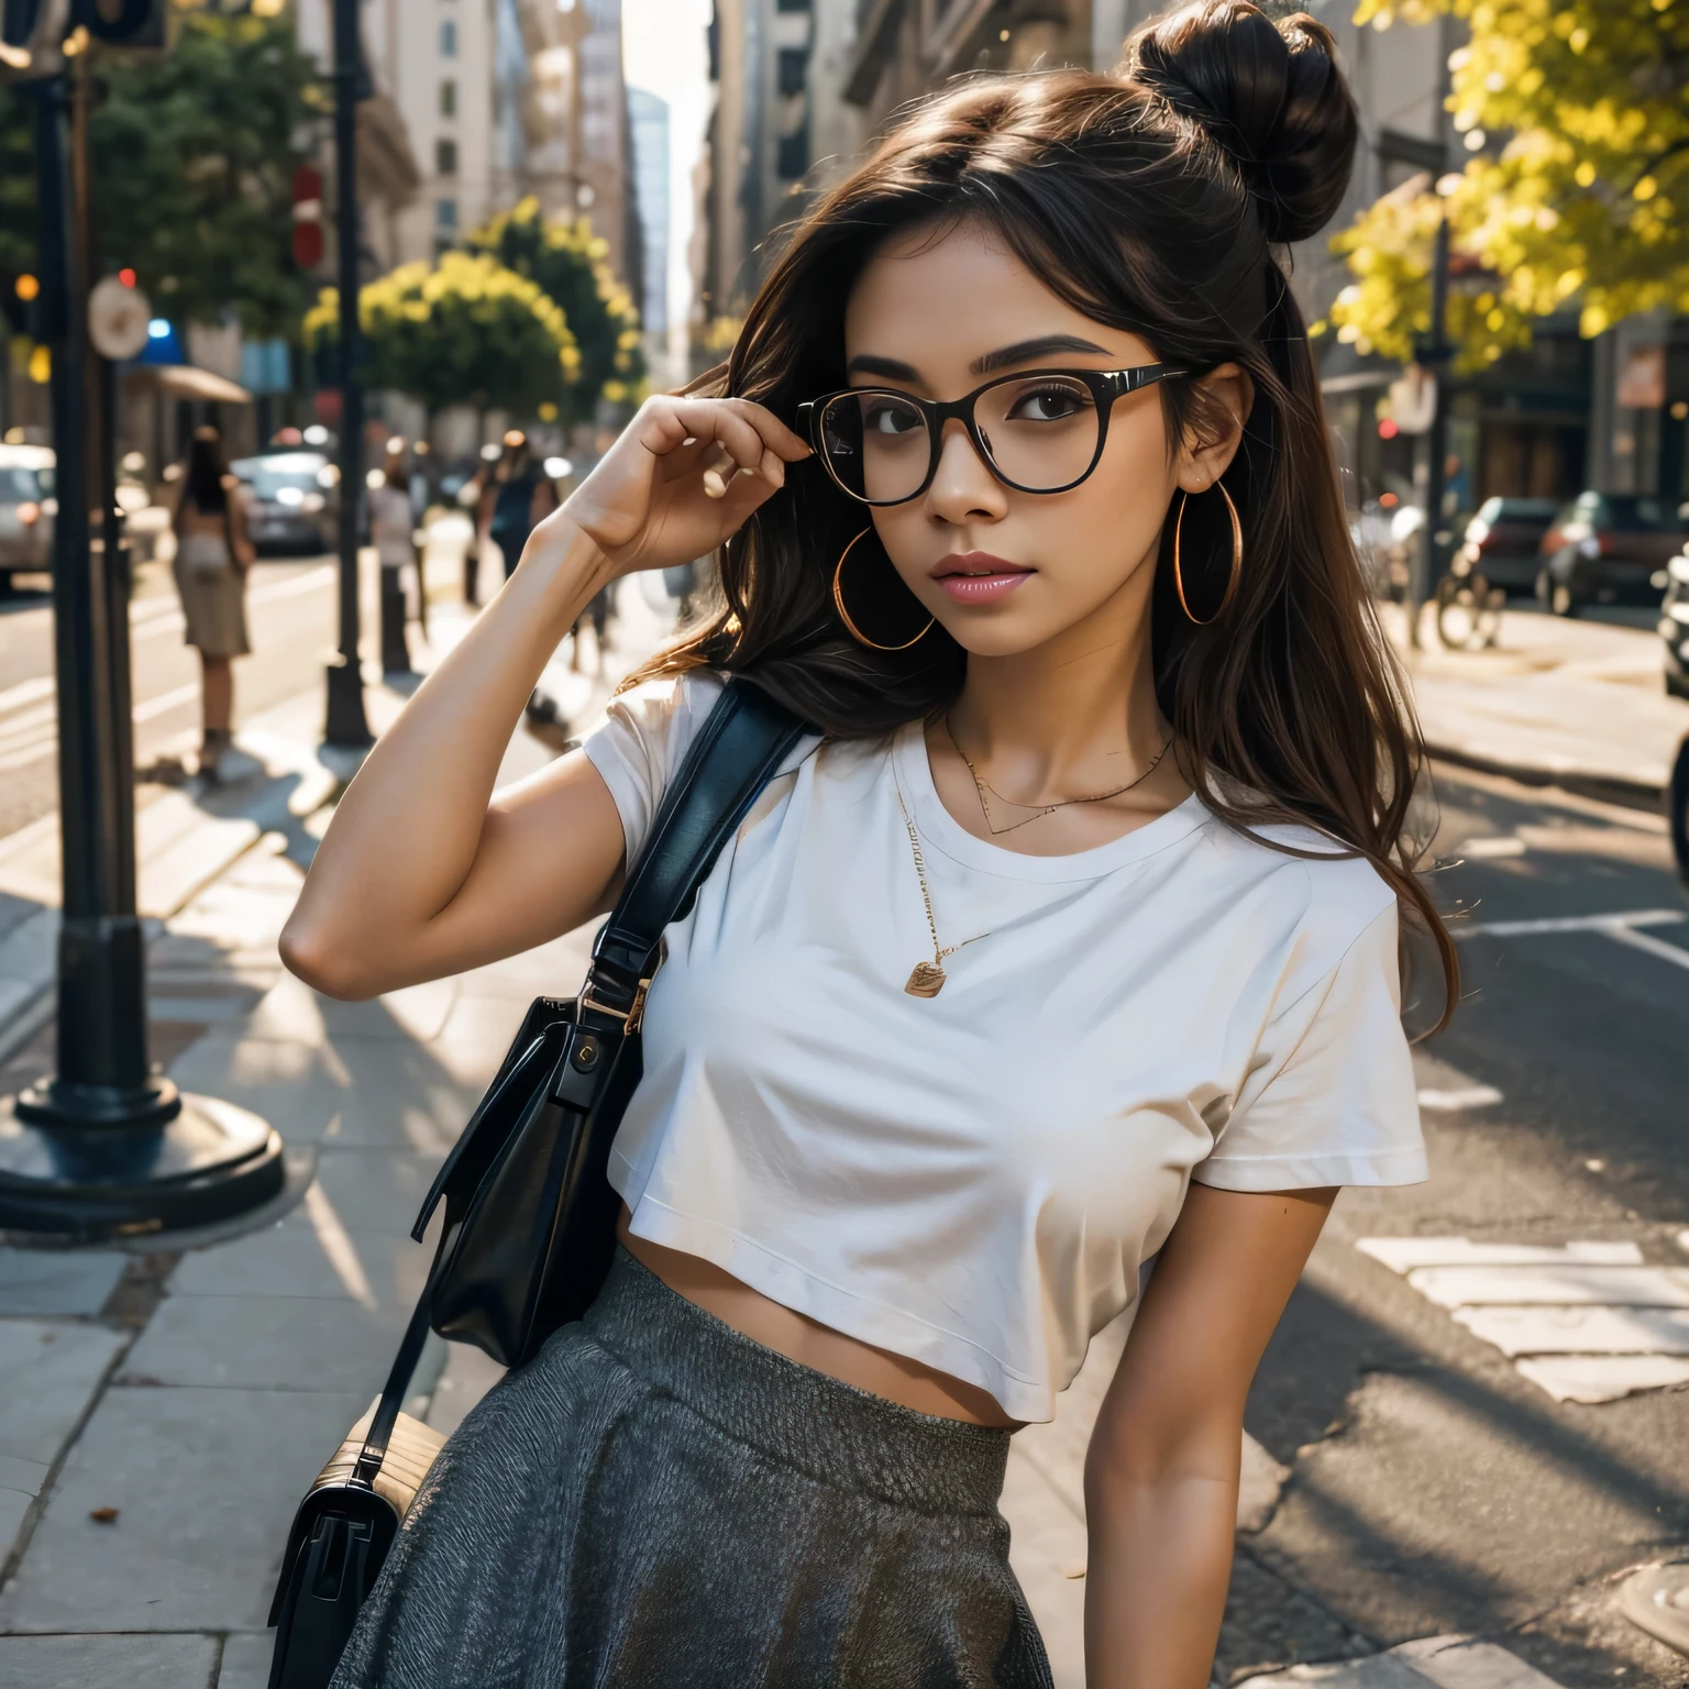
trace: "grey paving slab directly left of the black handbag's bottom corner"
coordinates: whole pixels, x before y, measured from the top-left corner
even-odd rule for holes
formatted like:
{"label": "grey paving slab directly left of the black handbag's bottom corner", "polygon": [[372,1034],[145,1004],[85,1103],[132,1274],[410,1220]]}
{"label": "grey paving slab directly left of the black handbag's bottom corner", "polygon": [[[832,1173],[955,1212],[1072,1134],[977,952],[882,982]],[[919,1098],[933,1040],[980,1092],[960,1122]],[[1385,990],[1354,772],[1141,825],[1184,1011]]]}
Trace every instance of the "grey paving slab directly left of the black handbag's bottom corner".
{"label": "grey paving slab directly left of the black handbag's bottom corner", "polygon": [[311,1295],[169,1295],[120,1378],[233,1390],[353,1390],[392,1365],[409,1309]]}

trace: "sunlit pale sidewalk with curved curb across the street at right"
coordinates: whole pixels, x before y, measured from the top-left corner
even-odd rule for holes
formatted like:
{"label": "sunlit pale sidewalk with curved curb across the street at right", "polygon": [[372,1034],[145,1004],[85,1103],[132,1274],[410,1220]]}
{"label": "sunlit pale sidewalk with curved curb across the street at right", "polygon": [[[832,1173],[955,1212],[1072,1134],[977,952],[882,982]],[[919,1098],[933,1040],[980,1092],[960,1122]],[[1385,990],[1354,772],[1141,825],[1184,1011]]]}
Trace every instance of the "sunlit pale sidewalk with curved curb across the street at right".
{"label": "sunlit pale sidewalk with curved curb across the street at right", "polygon": [[1655,632],[1507,610],[1493,650],[1447,652],[1427,613],[1414,652],[1402,610],[1382,611],[1434,757],[1659,809],[1689,703],[1665,692]]}

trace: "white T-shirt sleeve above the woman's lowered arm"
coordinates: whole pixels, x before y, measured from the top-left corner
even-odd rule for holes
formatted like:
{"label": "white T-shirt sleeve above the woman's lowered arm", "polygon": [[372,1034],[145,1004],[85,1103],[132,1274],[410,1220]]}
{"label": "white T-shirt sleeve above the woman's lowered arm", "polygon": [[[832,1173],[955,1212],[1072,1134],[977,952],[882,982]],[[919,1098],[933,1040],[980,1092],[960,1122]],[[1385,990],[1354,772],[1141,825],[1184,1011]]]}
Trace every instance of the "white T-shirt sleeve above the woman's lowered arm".
{"label": "white T-shirt sleeve above the woman's lowered arm", "polygon": [[1213,1154],[1191,1177],[1221,1191],[1427,1177],[1393,900],[1274,1015]]}

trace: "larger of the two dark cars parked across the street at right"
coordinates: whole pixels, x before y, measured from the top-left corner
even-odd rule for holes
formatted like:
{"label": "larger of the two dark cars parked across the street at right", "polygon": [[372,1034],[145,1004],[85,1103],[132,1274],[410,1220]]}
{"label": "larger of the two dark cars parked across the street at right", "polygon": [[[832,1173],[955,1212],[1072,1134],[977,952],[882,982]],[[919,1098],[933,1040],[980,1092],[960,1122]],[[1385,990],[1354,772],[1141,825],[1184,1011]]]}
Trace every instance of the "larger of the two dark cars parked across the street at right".
{"label": "larger of the two dark cars parked across the street at right", "polygon": [[1557,616],[1591,603],[1659,603],[1665,564],[1686,539],[1689,505],[1640,493],[1579,493],[1542,535],[1537,596]]}

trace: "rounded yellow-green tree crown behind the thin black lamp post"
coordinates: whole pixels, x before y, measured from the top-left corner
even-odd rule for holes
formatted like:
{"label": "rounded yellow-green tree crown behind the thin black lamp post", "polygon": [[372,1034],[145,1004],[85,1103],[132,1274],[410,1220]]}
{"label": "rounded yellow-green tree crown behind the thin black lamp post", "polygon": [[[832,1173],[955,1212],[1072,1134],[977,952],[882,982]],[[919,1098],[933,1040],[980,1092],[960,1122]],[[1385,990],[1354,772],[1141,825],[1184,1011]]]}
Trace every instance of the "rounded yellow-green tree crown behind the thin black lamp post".
{"label": "rounded yellow-green tree crown behind the thin black lamp post", "polygon": [[[407,263],[358,292],[367,338],[365,380],[419,400],[532,415],[561,404],[581,355],[557,304],[485,255],[443,253]],[[339,292],[326,287],[304,319],[306,346],[339,339]]]}

